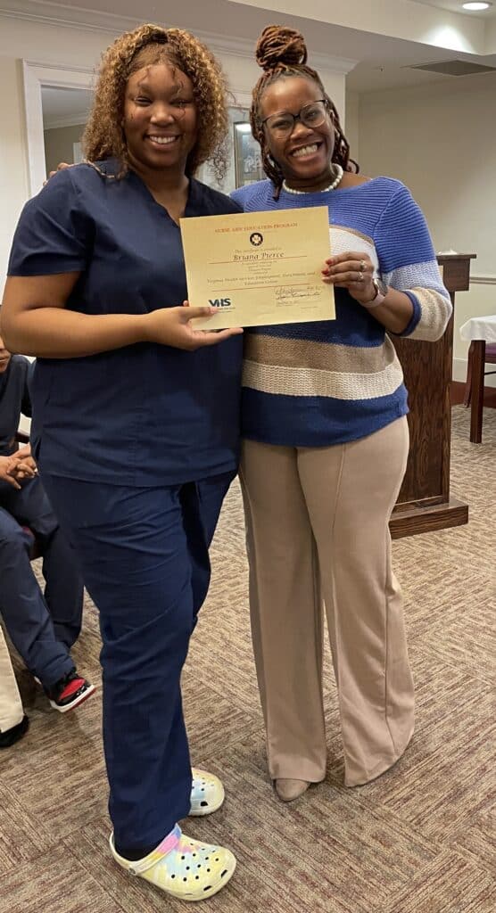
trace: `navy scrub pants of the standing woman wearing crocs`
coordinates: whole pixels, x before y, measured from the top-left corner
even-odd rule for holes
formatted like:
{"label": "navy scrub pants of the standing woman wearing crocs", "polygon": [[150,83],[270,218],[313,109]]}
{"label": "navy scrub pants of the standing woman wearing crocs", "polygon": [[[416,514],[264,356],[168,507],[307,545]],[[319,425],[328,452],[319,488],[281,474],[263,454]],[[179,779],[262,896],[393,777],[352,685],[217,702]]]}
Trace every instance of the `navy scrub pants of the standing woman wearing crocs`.
{"label": "navy scrub pants of the standing woman wearing crocs", "polygon": [[43,475],[100,612],[109,810],[127,849],[158,845],[189,813],[180,677],[233,476],[127,488]]}

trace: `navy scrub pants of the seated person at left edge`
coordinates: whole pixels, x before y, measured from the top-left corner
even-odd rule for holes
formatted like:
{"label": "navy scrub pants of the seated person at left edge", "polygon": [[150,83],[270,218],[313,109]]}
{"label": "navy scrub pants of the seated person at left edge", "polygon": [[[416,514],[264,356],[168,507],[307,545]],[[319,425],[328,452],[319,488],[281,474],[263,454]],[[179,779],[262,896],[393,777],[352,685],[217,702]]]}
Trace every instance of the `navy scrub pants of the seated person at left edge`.
{"label": "navy scrub pants of the seated person at left edge", "polygon": [[[36,533],[45,595],[29,561]],[[52,687],[74,666],[69,649],[81,628],[83,585],[74,551],[58,526],[39,478],[20,490],[0,481],[0,614],[26,666]]]}

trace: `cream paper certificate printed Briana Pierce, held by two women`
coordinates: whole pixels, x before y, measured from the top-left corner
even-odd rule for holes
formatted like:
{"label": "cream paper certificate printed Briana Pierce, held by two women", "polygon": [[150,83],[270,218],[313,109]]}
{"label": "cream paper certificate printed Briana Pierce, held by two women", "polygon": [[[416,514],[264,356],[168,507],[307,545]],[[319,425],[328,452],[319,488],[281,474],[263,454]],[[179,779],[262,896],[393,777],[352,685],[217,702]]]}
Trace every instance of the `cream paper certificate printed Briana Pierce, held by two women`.
{"label": "cream paper certificate printed Briana Pierce, held by two women", "polygon": [[333,320],[322,282],[330,256],[327,206],[181,219],[188,299],[218,313],[195,329]]}

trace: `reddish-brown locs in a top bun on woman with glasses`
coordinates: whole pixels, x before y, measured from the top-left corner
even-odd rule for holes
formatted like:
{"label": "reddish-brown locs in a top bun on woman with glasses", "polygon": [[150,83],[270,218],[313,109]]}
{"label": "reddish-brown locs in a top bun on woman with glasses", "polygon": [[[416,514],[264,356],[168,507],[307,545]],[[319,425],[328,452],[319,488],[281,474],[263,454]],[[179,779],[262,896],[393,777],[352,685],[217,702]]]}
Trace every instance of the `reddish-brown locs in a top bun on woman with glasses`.
{"label": "reddish-brown locs in a top bun on woman with glasses", "polygon": [[278,79],[297,76],[312,79],[317,83],[322,91],[322,99],[327,103],[334,131],[332,162],[340,164],[343,171],[358,172],[358,164],[350,159],[350,144],[344,136],[339,114],[325,91],[319,74],[307,65],[307,47],[301,33],[287,26],[267,26],[257,42],[255,57],[264,72],[252,92],[249,122],[253,136],[260,144],[263,170],[276,188],[274,199],[279,199],[283,174],[279,164],[269,153],[267,137],[260,118],[260,105],[265,90]]}

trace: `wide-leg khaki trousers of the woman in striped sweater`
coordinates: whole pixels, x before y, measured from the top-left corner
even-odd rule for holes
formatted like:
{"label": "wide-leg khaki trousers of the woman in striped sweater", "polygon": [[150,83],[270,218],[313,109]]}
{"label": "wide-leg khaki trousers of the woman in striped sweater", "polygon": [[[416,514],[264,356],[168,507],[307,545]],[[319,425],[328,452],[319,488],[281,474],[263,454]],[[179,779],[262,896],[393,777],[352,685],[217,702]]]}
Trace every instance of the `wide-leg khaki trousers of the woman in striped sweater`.
{"label": "wide-leg khaki trousers of the woman in striped sweater", "polygon": [[325,776],[322,596],[345,784],[386,771],[414,729],[388,519],[405,474],[406,417],[330,447],[245,441],[250,614],[274,779]]}

